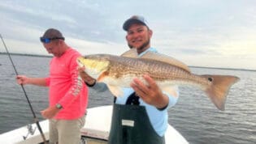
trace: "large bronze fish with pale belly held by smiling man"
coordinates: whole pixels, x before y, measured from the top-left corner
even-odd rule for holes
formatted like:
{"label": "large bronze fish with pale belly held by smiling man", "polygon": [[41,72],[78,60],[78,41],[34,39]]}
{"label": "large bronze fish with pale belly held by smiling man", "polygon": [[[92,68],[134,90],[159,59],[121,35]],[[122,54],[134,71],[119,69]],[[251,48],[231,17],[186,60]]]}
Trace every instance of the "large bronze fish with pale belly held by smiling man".
{"label": "large bronze fish with pale belly held by smiling man", "polygon": [[77,62],[99,83],[106,83],[115,96],[122,95],[122,87],[130,87],[133,78],[145,83],[142,75],[148,74],[163,91],[171,91],[173,86],[199,87],[220,110],[224,110],[230,87],[240,79],[232,75],[192,74],[181,61],[153,52],[142,57],[132,50],[121,56],[94,54],[79,57]]}

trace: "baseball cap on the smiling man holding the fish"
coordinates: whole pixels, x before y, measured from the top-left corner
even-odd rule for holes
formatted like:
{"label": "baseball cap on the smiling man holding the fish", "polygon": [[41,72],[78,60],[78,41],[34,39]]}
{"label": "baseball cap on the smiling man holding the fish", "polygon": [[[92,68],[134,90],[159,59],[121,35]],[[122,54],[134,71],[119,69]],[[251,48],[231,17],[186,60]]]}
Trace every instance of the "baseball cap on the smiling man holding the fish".
{"label": "baseball cap on the smiling man holding the fish", "polygon": [[147,21],[144,19],[143,16],[140,15],[133,15],[131,18],[127,19],[124,24],[123,24],[123,29],[124,31],[128,31],[128,28],[133,24],[133,23],[141,23],[145,25],[146,27],[149,28]]}

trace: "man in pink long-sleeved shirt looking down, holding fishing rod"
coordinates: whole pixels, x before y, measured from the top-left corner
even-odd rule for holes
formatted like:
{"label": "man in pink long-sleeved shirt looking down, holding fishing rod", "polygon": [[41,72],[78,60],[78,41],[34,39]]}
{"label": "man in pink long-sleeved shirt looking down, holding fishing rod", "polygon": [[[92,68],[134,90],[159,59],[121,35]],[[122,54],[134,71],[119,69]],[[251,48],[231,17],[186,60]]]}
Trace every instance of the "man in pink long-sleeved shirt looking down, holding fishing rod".
{"label": "man in pink long-sleeved shirt looking down, holding fishing rod", "polygon": [[47,52],[54,55],[49,77],[18,75],[17,82],[49,87],[49,107],[41,115],[49,119],[50,144],[79,144],[88,105],[88,88],[77,71],[76,58],[80,53],[69,47],[62,33],[54,28],[46,30],[40,40]]}

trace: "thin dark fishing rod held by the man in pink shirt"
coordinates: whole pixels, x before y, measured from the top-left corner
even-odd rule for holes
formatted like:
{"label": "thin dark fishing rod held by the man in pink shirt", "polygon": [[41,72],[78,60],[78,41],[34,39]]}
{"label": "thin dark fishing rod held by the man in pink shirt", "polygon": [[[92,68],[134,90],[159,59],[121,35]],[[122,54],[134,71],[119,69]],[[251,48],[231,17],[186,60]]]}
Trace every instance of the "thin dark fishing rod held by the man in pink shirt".
{"label": "thin dark fishing rod held by the man in pink shirt", "polygon": [[[2,40],[2,44],[4,45],[5,49],[7,50],[7,54],[8,54],[8,57],[9,57],[10,61],[11,61],[11,65],[12,65],[13,69],[15,70],[15,74],[16,74],[16,76],[17,76],[17,75],[19,75],[19,74],[18,74],[18,71],[17,71],[16,68],[15,68],[14,62],[13,62],[12,59],[11,59],[11,54],[9,53],[9,51],[8,51],[8,49],[7,49],[7,45],[5,44],[4,40],[2,39],[2,35],[1,35],[1,34],[0,34],[0,37],[1,37],[1,40]],[[33,113],[33,118],[34,118],[34,121],[35,121],[36,124],[37,124],[37,128],[38,128],[39,132],[41,133],[41,138],[43,139],[44,143],[47,144],[45,134],[42,132],[42,129],[41,129],[41,126],[40,126],[40,124],[39,124],[39,121],[38,121],[38,118],[37,118],[37,116],[36,116],[36,113],[34,112],[33,107],[32,107],[32,105],[31,105],[31,103],[30,103],[30,100],[28,99],[27,92],[26,92],[25,89],[24,89],[24,85],[23,85],[23,84],[20,84],[20,86],[21,86],[22,90],[24,91],[24,95],[25,95],[25,97],[26,97],[26,99],[27,99],[27,101],[28,101],[29,108],[30,108],[31,112]]]}

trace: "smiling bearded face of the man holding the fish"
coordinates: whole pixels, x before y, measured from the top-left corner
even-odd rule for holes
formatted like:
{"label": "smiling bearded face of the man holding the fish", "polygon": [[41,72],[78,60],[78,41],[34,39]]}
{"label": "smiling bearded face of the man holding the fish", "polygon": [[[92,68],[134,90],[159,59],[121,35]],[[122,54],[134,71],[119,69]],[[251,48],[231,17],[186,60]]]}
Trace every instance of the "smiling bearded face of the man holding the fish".
{"label": "smiling bearded face of the man holding the fish", "polygon": [[152,31],[145,25],[133,23],[127,31],[126,40],[130,48],[136,48],[138,53],[150,48]]}

